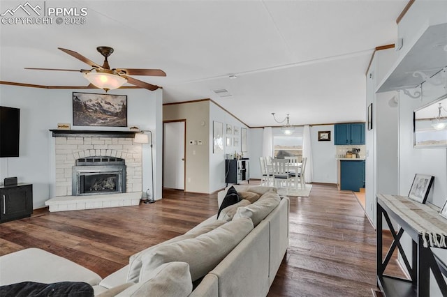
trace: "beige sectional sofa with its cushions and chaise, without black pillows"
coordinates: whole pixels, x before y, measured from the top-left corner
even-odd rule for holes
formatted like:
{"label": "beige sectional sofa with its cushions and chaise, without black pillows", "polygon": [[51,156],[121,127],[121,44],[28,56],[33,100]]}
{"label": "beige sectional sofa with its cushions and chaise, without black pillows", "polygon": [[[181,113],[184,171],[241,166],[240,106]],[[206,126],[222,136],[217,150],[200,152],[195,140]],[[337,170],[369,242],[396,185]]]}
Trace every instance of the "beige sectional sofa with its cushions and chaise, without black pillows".
{"label": "beige sectional sofa with its cushions and chaise, without black pillows", "polygon": [[[288,247],[289,200],[275,188],[235,185],[237,204],[182,236],[134,254],[101,280],[40,249],[0,257],[0,286],[87,282],[95,296],[266,296]],[[226,189],[228,190],[228,189]],[[226,190],[219,192],[219,206]]]}

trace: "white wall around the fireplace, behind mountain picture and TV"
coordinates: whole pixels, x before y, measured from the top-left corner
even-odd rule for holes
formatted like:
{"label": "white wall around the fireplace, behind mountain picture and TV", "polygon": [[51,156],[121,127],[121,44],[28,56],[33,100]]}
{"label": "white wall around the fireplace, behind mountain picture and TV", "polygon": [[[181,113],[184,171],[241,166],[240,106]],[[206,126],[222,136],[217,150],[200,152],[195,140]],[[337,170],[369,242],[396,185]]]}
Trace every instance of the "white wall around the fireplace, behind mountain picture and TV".
{"label": "white wall around the fireplace, behind mountain picture and TV", "polygon": [[[72,92],[98,93],[99,90],[36,89],[23,86],[0,85],[0,105],[20,108],[20,157],[0,159],[0,181],[17,176],[19,182],[33,184],[33,206],[41,208],[54,195],[54,137],[50,129],[57,123],[71,123],[78,130],[128,130],[113,127],[73,127]],[[122,89],[111,93],[128,96],[128,125],[138,125],[154,132],[154,183],[155,197],[161,198],[162,134],[161,90]],[[143,189],[151,188],[151,164],[149,145],[143,145]],[[160,184],[158,186],[158,184]]]}

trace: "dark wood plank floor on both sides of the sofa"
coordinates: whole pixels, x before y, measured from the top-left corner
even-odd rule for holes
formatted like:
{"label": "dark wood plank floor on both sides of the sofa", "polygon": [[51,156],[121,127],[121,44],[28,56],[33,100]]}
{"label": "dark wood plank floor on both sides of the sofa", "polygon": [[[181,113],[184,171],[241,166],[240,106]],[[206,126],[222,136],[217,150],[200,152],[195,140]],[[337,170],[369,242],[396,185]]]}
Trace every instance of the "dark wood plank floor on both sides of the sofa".
{"label": "dark wood plank floor on both sides of the sofa", "polygon": [[[41,248],[105,277],[128,264],[131,254],[217,213],[216,194],[165,190],[163,197],[123,208],[34,211],[31,218],[0,224],[0,255]],[[352,192],[313,185],[310,197],[291,197],[290,220],[290,245],[269,296],[372,296],[376,233]],[[400,272],[392,268],[388,273]]]}

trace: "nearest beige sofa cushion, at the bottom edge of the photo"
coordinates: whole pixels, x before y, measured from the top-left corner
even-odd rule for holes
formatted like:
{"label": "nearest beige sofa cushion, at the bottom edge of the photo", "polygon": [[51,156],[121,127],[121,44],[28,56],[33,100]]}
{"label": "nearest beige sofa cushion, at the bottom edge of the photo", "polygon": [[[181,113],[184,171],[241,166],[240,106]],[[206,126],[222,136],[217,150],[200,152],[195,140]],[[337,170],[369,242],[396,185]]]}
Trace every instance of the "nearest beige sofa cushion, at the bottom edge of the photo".
{"label": "nearest beige sofa cushion, at the bottom edge of the photo", "polygon": [[138,284],[125,289],[117,297],[184,297],[192,291],[189,265],[184,262],[170,262],[147,273]]}

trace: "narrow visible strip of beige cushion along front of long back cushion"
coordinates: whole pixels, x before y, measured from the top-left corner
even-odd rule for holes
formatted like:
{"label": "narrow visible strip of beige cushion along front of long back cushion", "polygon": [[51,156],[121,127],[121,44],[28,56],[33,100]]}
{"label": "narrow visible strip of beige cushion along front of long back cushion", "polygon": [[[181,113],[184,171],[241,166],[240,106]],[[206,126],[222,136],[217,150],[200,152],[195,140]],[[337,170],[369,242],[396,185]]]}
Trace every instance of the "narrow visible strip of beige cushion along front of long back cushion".
{"label": "narrow visible strip of beige cushion along front of long back cushion", "polygon": [[182,241],[182,240],[188,239],[188,238],[196,238],[197,236],[199,236],[201,234],[205,234],[211,230],[214,230],[217,227],[219,227],[225,223],[226,223],[226,221],[224,221],[224,220],[214,220],[213,222],[210,222],[209,224],[204,224],[203,226],[194,228],[194,229],[186,232],[186,234],[177,236],[175,238],[171,238],[168,241],[164,241],[163,243],[159,243],[158,245],[154,245],[150,248],[142,250],[141,252],[133,254],[129,258],[129,271],[127,273],[126,282],[138,282],[138,280],[140,278],[140,270],[141,270],[141,265],[142,265],[141,257],[143,254],[150,252],[154,248],[158,248],[161,245],[166,245],[168,243],[175,243],[177,241]]}

